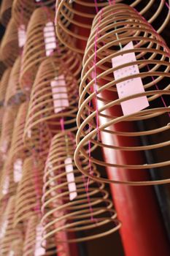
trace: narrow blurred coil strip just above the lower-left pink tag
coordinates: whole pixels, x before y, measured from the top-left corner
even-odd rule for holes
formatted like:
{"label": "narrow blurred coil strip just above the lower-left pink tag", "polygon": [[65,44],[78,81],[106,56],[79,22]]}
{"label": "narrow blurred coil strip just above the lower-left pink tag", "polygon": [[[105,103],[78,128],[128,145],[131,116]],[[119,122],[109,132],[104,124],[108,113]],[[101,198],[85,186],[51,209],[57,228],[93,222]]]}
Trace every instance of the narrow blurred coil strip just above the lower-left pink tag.
{"label": "narrow blurred coil strip just above the lower-left pink tag", "polygon": [[10,156],[12,161],[24,160],[31,153],[23,141],[23,132],[26,124],[26,115],[28,111],[28,102],[23,102],[18,110],[15,125],[12,133],[12,143],[10,148]]}

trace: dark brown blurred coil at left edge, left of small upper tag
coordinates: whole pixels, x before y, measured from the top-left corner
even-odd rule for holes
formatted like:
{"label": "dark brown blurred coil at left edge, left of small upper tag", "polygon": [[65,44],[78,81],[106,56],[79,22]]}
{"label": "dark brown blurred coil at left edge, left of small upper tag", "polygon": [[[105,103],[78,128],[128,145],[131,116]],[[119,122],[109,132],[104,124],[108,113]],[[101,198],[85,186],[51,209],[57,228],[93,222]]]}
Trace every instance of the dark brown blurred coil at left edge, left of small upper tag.
{"label": "dark brown blurred coil at left edge, left of small upper tag", "polygon": [[7,67],[12,67],[18,54],[18,29],[11,18],[1,40],[0,59]]}

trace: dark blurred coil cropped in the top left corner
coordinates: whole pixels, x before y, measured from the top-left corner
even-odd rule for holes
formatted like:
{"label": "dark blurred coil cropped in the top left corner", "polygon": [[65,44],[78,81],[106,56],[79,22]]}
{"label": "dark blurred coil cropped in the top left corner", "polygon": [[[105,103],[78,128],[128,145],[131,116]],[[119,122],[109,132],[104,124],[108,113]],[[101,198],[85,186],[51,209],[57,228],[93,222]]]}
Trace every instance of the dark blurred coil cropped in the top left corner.
{"label": "dark blurred coil cropped in the top left corner", "polygon": [[1,2],[0,20],[4,26],[7,26],[11,18],[12,2],[13,0],[3,0]]}

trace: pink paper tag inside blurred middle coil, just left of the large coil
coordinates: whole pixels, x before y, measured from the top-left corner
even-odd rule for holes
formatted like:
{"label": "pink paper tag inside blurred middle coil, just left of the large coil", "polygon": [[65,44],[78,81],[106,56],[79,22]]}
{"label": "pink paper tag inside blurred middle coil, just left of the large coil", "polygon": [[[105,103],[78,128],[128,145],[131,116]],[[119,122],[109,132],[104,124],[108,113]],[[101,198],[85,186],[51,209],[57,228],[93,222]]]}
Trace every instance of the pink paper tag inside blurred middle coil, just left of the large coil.
{"label": "pink paper tag inside blurred middle coil, just left of the large coil", "polygon": [[63,75],[51,81],[51,88],[53,92],[54,112],[58,113],[69,107],[69,98],[66,90],[66,81]]}

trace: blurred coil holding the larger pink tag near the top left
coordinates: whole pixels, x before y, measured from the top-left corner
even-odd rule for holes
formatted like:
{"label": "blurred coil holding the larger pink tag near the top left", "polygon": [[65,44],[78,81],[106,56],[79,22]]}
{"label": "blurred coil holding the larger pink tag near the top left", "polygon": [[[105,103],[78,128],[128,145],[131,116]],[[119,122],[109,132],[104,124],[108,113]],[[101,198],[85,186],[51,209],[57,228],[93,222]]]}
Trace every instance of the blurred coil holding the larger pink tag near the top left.
{"label": "blurred coil holding the larger pink tag near the top left", "polygon": [[34,11],[28,24],[20,74],[21,89],[27,91],[28,94],[39,65],[50,55],[58,56],[60,61],[66,62],[75,76],[80,74],[80,56],[67,50],[56,39],[54,15],[55,13],[48,8],[38,8]]}

